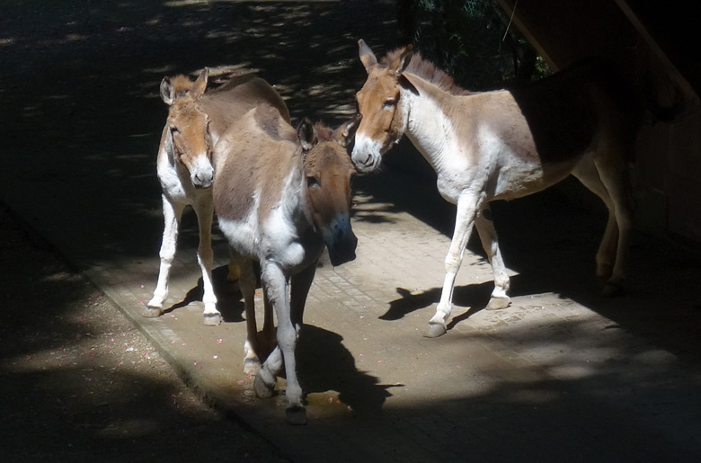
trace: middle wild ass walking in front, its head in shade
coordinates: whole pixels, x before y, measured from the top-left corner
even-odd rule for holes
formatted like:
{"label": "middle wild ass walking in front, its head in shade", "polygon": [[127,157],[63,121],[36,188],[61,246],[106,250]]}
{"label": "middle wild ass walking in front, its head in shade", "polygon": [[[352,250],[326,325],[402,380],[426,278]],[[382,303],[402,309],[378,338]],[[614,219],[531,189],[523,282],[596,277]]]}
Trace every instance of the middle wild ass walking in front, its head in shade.
{"label": "middle wild ass walking in front, its head in shade", "polygon": [[[306,423],[295,347],[317,262],[324,246],[334,266],[355,258],[358,240],[350,212],[356,170],[345,146],[358,121],[332,130],[305,119],[294,129],[279,106],[261,104],[235,120],[214,153],[219,229],[241,268],[244,372],[257,375],[256,395],[269,397],[284,366],[288,423]],[[265,306],[262,339],[253,307],[254,263],[260,267]]]}

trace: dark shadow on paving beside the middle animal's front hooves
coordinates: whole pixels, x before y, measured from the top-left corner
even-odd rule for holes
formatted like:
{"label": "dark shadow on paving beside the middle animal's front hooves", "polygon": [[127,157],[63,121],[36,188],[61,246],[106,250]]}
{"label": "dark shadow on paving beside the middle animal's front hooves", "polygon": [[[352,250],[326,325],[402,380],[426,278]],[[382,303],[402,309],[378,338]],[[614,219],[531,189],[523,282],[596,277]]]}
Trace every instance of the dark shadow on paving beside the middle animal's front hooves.
{"label": "dark shadow on paving beside the middle animal's front hooves", "polygon": [[297,342],[297,371],[305,393],[337,391],[343,404],[358,416],[380,414],[391,396],[389,385],[360,371],[342,336],[313,325],[304,325]]}

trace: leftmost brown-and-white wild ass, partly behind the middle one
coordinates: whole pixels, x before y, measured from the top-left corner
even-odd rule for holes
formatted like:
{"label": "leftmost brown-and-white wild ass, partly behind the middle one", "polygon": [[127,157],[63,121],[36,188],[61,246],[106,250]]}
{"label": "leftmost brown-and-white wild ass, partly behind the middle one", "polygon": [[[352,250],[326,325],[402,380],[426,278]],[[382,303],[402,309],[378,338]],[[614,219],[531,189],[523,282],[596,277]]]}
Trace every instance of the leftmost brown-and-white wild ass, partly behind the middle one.
{"label": "leftmost brown-and-white wild ass, partly behind the middle one", "polygon": [[[211,270],[213,148],[232,120],[259,102],[274,102],[288,120],[289,113],[280,95],[253,74],[235,76],[212,90],[207,89],[208,80],[209,70],[205,68],[194,82],[186,76],[164,77],[161,82],[161,98],[169,108],[156,170],[162,187],[165,225],[158,281],[154,296],[142,314],[148,317],[163,314],[182,212],[191,206],[197,214],[200,232],[197,260],[204,287],[204,324],[218,325],[221,314],[217,310]],[[238,273],[235,263],[230,263],[229,280],[237,280]]]}

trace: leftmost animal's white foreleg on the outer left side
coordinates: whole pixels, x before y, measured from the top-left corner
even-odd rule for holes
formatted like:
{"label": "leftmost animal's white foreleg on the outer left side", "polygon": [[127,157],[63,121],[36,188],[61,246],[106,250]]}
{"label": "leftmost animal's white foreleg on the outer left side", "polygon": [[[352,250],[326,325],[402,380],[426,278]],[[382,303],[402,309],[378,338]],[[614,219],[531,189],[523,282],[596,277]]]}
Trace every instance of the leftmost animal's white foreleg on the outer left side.
{"label": "leftmost animal's white foreleg on the outer left side", "polygon": [[163,199],[164,231],[161,242],[161,268],[158,272],[158,282],[155,285],[154,297],[146,304],[143,315],[147,317],[160,316],[163,313],[163,304],[168,297],[168,277],[170,276],[175,249],[178,243],[178,227],[182,218],[182,210],[185,205],[181,203],[173,204],[165,195]]}

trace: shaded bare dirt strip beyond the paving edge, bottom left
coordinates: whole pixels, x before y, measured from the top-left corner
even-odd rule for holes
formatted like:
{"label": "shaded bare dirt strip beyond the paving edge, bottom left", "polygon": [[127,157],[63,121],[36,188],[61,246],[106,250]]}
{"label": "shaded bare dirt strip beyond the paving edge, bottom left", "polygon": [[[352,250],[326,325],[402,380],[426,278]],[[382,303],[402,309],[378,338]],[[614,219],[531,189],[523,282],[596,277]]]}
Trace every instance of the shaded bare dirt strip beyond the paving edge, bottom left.
{"label": "shaded bare dirt strip beyond the paving edge, bottom left", "polygon": [[286,461],[203,405],[102,291],[2,203],[0,238],[3,459]]}

